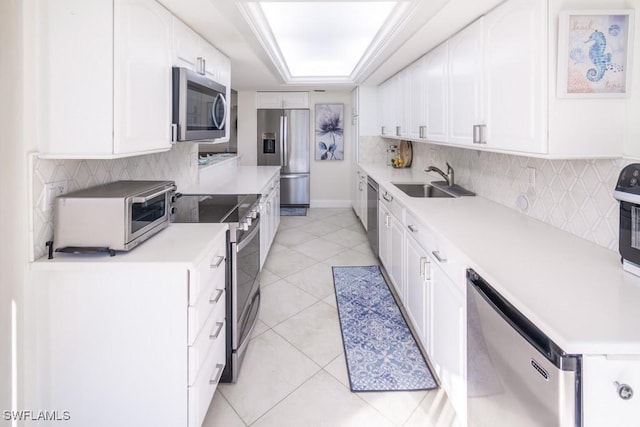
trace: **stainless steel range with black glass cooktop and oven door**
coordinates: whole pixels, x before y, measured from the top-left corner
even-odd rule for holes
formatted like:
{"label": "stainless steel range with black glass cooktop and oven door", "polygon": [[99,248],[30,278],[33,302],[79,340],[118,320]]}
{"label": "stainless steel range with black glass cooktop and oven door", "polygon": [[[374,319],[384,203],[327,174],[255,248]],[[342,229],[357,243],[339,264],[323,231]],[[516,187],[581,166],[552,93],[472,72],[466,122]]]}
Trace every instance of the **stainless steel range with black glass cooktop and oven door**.
{"label": "stainless steel range with black glass cooktop and oven door", "polygon": [[226,223],[227,364],[236,382],[260,308],[260,194],[178,194],[174,222]]}

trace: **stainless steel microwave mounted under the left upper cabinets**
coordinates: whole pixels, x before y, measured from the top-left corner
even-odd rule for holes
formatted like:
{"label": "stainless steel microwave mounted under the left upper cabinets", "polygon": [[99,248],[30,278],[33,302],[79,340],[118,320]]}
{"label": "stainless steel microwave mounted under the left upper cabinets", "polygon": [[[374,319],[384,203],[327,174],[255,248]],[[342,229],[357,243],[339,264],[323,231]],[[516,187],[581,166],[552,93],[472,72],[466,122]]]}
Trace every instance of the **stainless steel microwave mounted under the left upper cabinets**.
{"label": "stainless steel microwave mounted under the left upper cabinets", "polygon": [[227,136],[227,88],[187,68],[173,67],[174,141]]}

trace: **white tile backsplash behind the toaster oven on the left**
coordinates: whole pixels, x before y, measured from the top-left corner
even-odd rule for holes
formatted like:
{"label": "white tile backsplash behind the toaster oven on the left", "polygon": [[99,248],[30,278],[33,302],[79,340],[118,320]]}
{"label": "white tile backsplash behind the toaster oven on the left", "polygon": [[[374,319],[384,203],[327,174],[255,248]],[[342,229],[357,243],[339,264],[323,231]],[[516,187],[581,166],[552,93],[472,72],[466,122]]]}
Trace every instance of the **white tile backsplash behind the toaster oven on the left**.
{"label": "white tile backsplash behind the toaster oven on the left", "polygon": [[33,169],[33,247],[34,259],[45,255],[45,243],[53,238],[53,211],[42,209],[44,186],[47,183],[67,181],[68,192],[82,190],[112,181],[173,180],[178,189],[198,182],[198,144],[178,143],[171,150],[113,160],[49,160],[37,154],[31,159]]}

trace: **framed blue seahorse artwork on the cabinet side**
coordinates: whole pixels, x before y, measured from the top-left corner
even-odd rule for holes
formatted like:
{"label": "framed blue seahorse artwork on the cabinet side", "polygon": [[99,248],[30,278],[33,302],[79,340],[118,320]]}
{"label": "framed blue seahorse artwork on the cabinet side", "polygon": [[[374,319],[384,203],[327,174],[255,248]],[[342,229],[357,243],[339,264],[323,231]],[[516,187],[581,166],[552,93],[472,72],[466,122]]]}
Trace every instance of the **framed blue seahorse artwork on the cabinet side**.
{"label": "framed blue seahorse artwork on the cabinet side", "polygon": [[559,18],[558,97],[627,96],[634,11],[562,11]]}

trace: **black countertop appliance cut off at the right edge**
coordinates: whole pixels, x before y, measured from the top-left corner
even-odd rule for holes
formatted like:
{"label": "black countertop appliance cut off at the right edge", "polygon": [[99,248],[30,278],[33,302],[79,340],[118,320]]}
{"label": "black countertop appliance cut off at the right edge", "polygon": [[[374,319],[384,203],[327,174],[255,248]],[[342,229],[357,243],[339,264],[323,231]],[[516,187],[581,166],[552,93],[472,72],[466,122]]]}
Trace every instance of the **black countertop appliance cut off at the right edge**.
{"label": "black countertop appliance cut off at the right edge", "polygon": [[620,201],[618,248],[622,267],[640,276],[640,163],[622,169],[613,197]]}

